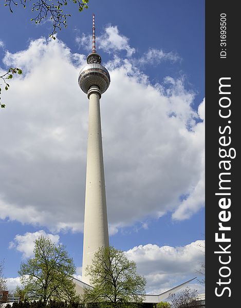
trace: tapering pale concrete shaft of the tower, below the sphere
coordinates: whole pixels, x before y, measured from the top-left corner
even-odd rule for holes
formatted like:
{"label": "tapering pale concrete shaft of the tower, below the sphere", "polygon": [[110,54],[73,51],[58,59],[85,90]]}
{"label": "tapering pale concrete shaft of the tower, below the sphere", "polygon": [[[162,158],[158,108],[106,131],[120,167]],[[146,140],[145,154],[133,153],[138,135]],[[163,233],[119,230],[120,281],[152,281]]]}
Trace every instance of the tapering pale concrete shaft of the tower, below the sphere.
{"label": "tapering pale concrete shaft of the tower, below the sphere", "polygon": [[89,127],[87,146],[84,245],[83,245],[83,282],[90,284],[86,274],[86,265],[92,264],[92,258],[99,247],[109,245],[107,210],[105,197],[104,163],[102,150],[101,92],[98,86],[91,86],[89,98]]}

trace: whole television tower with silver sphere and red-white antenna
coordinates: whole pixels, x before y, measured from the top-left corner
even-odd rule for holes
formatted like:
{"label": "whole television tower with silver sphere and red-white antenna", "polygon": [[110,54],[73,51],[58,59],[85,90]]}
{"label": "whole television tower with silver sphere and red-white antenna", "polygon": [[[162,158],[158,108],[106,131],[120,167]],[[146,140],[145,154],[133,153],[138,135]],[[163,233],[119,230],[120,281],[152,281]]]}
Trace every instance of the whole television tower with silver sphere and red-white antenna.
{"label": "whole television tower with silver sphere and red-white antenna", "polygon": [[107,69],[101,64],[100,55],[96,52],[94,14],[92,51],[87,56],[87,65],[80,71],[78,81],[80,88],[89,99],[82,281],[90,284],[89,277],[85,276],[86,266],[92,263],[92,258],[99,247],[109,245],[100,98],[110,84],[110,77]]}

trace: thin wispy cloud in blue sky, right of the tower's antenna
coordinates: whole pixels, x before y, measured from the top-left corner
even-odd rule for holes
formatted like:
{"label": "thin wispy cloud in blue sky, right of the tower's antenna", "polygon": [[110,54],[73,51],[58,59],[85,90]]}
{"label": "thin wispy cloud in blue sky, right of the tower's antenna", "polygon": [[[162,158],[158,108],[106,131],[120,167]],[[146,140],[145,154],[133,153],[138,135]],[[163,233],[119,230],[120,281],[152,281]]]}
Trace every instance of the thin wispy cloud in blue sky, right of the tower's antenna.
{"label": "thin wispy cloud in blue sky, right of the tower's antenna", "polygon": [[162,61],[176,62],[180,60],[180,57],[172,51],[164,52],[161,49],[149,48],[149,50],[145,52],[139,59],[135,59],[135,63],[137,65],[157,65]]}

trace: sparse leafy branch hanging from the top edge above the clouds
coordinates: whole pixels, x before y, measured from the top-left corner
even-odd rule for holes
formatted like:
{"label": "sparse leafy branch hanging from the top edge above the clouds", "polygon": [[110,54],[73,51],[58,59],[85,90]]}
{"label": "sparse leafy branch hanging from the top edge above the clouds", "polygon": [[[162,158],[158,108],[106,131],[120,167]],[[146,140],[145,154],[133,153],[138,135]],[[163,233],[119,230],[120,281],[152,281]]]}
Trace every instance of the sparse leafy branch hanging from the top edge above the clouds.
{"label": "sparse leafy branch hanging from the top edge above the clouds", "polygon": [[[55,34],[62,27],[67,27],[67,17],[71,16],[69,13],[64,12],[63,7],[67,6],[69,2],[78,5],[79,12],[87,9],[87,3],[89,0],[37,0],[32,4],[31,11],[36,12],[36,16],[31,18],[31,21],[35,24],[40,24],[42,20],[49,17],[53,28],[49,34],[51,38],[55,40]],[[9,7],[11,13],[13,13],[13,6],[18,4],[22,5],[26,9],[26,5],[31,0],[5,0],[5,6]]]}

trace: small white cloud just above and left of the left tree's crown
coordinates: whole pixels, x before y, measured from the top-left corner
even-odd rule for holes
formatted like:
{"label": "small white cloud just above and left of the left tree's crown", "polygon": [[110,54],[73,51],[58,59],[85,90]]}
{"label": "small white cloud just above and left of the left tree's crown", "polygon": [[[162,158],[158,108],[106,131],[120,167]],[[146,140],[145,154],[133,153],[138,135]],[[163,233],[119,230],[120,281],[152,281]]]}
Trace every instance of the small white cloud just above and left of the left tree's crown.
{"label": "small white cloud just above and left of the left tree's crown", "polygon": [[15,248],[23,254],[23,258],[33,257],[34,241],[41,235],[49,238],[53,243],[59,243],[59,235],[46,234],[44,230],[39,230],[34,233],[26,232],[24,235],[17,234],[14,241],[9,243],[9,249]]}

